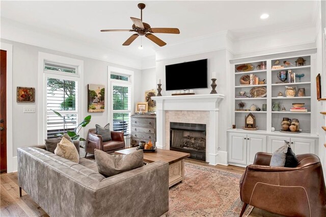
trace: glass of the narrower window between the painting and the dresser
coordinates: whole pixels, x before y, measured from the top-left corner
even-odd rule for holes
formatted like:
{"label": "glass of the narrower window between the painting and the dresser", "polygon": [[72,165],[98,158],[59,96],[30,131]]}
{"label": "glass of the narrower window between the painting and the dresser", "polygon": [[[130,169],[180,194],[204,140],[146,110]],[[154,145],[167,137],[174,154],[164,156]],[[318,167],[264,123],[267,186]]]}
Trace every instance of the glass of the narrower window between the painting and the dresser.
{"label": "glass of the narrower window between the painting and the dresser", "polygon": [[130,133],[131,83],[129,75],[111,74],[113,130]]}

